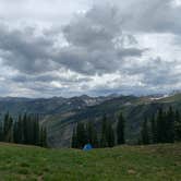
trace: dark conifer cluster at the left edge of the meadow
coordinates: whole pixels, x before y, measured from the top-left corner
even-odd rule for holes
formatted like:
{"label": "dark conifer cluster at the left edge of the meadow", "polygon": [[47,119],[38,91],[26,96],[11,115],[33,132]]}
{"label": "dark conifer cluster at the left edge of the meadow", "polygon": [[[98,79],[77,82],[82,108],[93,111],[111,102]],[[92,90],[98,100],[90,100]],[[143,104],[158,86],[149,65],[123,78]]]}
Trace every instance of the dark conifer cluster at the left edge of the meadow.
{"label": "dark conifer cluster at the left edge of the meadow", "polygon": [[8,112],[0,123],[0,142],[47,147],[47,131],[39,125],[38,114],[24,113],[13,120]]}

